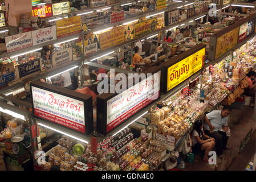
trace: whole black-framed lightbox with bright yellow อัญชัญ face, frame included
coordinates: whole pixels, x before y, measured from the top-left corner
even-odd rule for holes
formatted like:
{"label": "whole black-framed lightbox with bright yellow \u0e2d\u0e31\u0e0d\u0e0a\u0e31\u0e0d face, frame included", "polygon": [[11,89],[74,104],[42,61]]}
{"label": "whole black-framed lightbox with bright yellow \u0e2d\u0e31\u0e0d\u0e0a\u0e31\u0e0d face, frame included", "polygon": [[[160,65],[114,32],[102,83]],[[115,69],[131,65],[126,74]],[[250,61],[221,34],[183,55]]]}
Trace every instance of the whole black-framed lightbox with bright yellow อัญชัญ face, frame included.
{"label": "whole black-framed lightbox with bright yellow \u0e2d\u0e31\u0e0d\u0e0a\u0e31\u0e0d face, frame included", "polygon": [[164,67],[161,80],[162,91],[168,92],[200,71],[204,67],[205,49],[204,45],[199,44],[176,56],[172,61],[160,64]]}

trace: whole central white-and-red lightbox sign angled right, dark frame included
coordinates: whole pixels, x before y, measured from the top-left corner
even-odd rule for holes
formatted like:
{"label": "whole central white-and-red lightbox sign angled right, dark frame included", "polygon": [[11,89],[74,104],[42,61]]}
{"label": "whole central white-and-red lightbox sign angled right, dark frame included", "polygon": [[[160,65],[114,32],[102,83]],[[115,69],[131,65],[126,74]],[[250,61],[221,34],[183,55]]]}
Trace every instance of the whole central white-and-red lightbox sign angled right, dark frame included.
{"label": "whole central white-and-red lightbox sign angled right, dark frame included", "polygon": [[160,67],[152,67],[147,73],[152,75],[120,94],[97,97],[97,131],[100,134],[106,135],[160,97]]}

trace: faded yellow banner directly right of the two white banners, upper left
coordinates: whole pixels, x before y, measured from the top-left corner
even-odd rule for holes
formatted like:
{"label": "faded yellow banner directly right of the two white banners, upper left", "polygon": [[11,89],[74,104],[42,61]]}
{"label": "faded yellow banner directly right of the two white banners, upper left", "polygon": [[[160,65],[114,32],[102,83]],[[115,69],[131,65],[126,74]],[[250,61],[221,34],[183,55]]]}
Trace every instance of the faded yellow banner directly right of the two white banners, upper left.
{"label": "faded yellow banner directly right of the two white banners, upper left", "polygon": [[56,29],[58,39],[82,32],[81,16],[73,16],[56,21]]}

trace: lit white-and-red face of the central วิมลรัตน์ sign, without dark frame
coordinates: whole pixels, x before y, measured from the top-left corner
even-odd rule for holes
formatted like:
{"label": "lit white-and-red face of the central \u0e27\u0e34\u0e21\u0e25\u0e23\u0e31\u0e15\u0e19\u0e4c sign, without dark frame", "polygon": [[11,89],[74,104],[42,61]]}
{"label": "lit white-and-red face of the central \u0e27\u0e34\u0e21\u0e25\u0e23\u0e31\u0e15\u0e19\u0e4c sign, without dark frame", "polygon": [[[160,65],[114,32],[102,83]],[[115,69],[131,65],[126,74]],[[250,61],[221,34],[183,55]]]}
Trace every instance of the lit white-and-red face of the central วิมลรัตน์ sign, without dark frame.
{"label": "lit white-and-red face of the central \u0e27\u0e34\u0e21\u0e25\u0e23\u0e31\u0e15\u0e19\u0e4c sign, without dark frame", "polygon": [[160,72],[158,74],[159,77],[152,75],[107,101],[107,133],[155,101],[153,84],[159,83],[155,85],[159,91]]}

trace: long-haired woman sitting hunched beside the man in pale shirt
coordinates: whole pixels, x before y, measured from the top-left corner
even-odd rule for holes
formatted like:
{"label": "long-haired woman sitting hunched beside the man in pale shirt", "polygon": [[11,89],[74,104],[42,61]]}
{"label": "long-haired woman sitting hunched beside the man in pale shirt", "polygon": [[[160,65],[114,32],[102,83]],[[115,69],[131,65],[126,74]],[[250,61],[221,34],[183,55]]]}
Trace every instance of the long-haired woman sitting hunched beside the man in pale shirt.
{"label": "long-haired woman sitting hunched beside the man in pale shirt", "polygon": [[204,162],[208,162],[208,154],[213,150],[215,146],[215,139],[210,138],[208,135],[204,133],[202,121],[197,121],[194,126],[194,130],[192,131],[192,143],[193,151],[203,151],[204,154]]}

